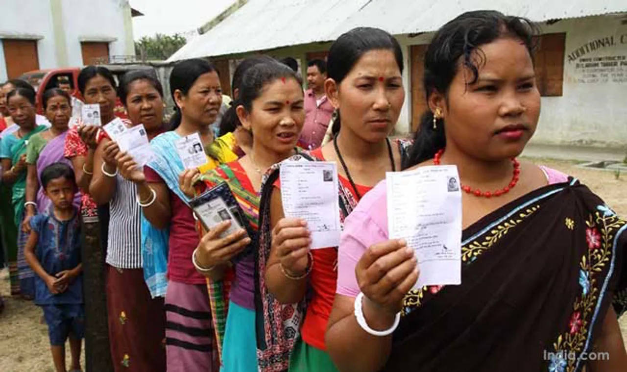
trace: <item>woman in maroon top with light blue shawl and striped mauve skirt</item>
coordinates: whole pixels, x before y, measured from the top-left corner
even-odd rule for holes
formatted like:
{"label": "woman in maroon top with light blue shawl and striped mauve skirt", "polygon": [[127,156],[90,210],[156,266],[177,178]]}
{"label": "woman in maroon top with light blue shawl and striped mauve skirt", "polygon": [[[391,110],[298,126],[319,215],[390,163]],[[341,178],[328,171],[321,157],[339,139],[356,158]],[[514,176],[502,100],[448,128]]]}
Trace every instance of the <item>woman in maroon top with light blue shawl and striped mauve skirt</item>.
{"label": "woman in maroon top with light blue shawl and striped mauve skirt", "polygon": [[[179,188],[184,166],[174,141],[198,133],[213,156],[208,157],[208,169],[237,156],[211,146],[209,125],[216,120],[222,100],[213,65],[199,59],[177,63],[170,90],[176,103],[173,130],[151,142],[156,159],[144,167],[144,173],[132,177],[137,199],[146,201],[142,207],[144,276],[153,297],[165,295],[167,371],[217,371],[207,284],[191,262],[199,236],[189,200]],[[127,167],[127,162],[120,163],[120,169]]]}

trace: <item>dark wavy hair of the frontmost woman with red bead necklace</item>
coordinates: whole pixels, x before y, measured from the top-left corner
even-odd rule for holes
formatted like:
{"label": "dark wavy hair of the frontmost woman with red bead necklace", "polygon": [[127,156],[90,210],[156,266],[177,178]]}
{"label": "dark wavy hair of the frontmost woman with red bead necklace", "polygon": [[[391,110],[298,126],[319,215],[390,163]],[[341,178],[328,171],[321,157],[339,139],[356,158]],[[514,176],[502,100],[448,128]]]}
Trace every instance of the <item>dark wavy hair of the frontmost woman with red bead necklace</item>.
{"label": "dark wavy hair of the frontmost woman with red bead necklace", "polygon": [[[470,11],[446,23],[433,37],[424,55],[423,87],[427,102],[433,92],[448,93],[461,64],[473,74],[468,84],[477,82],[479,68],[485,63],[481,46],[498,38],[507,36],[522,41],[533,56],[536,30],[529,19],[505,16],[498,11]],[[414,144],[403,167],[427,161],[444,147],[444,124],[440,122],[433,130],[433,112],[427,110],[420,119]]]}

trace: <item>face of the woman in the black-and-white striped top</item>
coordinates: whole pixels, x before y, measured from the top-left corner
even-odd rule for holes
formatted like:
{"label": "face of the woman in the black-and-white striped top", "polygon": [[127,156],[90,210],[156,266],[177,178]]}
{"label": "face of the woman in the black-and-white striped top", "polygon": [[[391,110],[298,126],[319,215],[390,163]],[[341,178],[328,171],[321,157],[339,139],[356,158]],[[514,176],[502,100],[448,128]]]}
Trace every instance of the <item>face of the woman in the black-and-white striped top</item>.
{"label": "face of the woman in the black-and-white striped top", "polygon": [[161,129],[163,98],[148,80],[135,80],[129,85],[126,109],[133,125],[144,124],[146,130]]}

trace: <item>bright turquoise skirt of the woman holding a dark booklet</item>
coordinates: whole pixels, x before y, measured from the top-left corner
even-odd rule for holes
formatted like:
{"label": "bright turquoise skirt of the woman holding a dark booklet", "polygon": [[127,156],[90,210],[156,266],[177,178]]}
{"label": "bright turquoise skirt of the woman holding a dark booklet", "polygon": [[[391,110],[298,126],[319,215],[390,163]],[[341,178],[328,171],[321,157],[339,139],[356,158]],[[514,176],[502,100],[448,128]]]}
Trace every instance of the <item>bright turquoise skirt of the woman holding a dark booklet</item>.
{"label": "bright turquoise skirt of the woman holding a dark booklet", "polygon": [[229,302],[220,372],[257,372],[255,311]]}

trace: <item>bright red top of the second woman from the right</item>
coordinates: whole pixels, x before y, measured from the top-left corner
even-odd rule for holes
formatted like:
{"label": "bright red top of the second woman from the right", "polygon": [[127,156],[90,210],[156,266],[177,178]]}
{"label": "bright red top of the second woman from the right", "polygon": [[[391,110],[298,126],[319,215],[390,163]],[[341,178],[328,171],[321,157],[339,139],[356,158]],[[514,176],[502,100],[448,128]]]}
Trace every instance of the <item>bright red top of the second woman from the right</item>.
{"label": "bright red top of the second woman from the right", "polygon": [[[324,161],[322,149],[315,149],[309,152],[313,157]],[[339,181],[346,190],[354,194],[352,186],[348,179],[339,176]],[[357,191],[362,196],[370,191],[369,186],[355,185]],[[280,188],[280,182],[277,179],[275,187]],[[313,290],[312,299],[307,306],[307,314],[305,321],[300,329],[300,335],[310,346],[320,350],[326,350],[324,343],[324,334],[327,330],[327,322],[333,307],[335,299],[335,288],[337,287],[337,247],[321,248],[312,250],[314,256],[314,267],[309,274],[309,283]]]}

